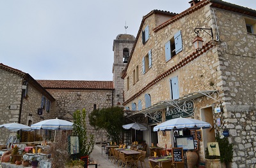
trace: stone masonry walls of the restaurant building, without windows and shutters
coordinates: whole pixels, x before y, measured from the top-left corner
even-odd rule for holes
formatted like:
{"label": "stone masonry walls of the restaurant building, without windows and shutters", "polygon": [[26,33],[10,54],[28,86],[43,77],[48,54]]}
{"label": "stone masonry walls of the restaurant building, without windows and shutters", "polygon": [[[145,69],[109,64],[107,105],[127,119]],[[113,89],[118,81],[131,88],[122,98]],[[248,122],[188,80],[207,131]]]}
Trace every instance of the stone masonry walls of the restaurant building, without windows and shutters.
{"label": "stone masonry walls of the restaurant building, without windows and shutters", "polygon": [[[200,161],[204,161],[204,150],[207,141],[214,141],[214,132],[222,133],[224,127],[230,131],[228,138],[234,144],[234,159],[231,167],[252,167],[255,164],[255,34],[246,31],[242,15],[246,8],[220,1],[200,1],[196,6],[171,18],[167,22],[156,26],[157,14],[146,15],[141,22],[136,42],[132,48],[132,55],[125,68],[125,102],[124,106],[131,109],[132,103],[142,102],[141,113],[148,115],[145,94],[150,95],[151,104],[172,99],[170,80],[178,78],[179,97],[201,92],[213,92],[211,98],[207,96],[193,99],[193,118],[204,120],[214,125],[212,130],[202,130],[203,141],[200,141],[198,154]],[[235,12],[236,11],[236,12]],[[251,10],[248,15],[256,20],[256,11]],[[149,27],[149,39],[143,44],[142,31]],[[202,50],[195,50],[192,41],[195,38],[196,27],[212,28],[207,34],[199,32],[204,40]],[[230,29],[232,27],[232,29]],[[172,41],[177,32],[181,32],[182,50],[170,60],[165,59],[165,44]],[[218,40],[216,40],[218,36]],[[152,67],[143,73],[143,57],[151,51]],[[134,85],[132,72],[140,67],[139,81]],[[214,108],[221,106],[223,111],[214,114]],[[167,108],[167,107],[166,107]],[[138,110],[138,108],[137,108]],[[148,110],[149,111],[149,110]],[[150,111],[151,113],[152,111]],[[138,112],[137,112],[138,113]],[[166,109],[162,109],[162,120],[165,121]],[[221,126],[216,125],[216,118],[221,117]],[[151,127],[154,127],[152,125]],[[150,126],[148,127],[150,130]],[[153,137],[150,131],[143,133],[148,144]],[[158,134],[159,146],[173,144],[172,132],[163,136]],[[171,137],[171,138],[170,138]],[[242,151],[243,150],[243,151]],[[248,161],[250,160],[250,161]]]}

